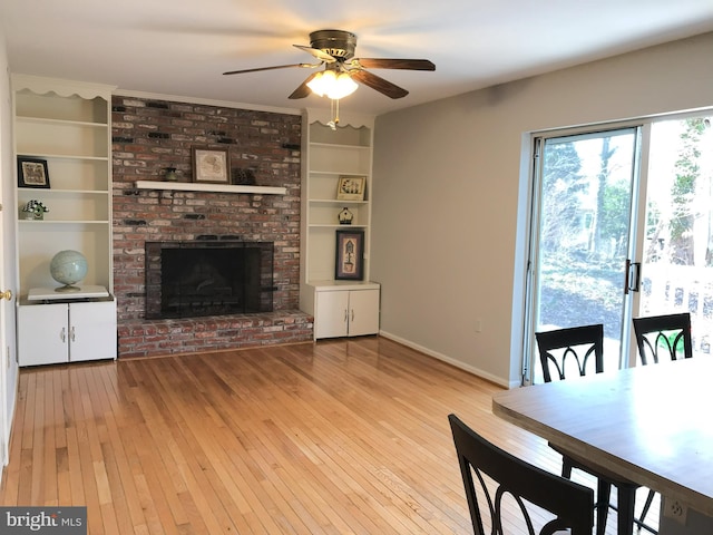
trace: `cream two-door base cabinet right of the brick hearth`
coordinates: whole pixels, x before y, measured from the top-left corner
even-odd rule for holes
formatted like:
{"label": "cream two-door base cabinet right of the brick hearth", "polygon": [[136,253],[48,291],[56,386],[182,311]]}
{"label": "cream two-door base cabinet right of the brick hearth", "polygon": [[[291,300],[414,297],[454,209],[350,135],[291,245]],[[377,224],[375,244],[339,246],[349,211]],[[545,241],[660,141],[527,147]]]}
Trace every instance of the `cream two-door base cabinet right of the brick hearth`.
{"label": "cream two-door base cabinet right of the brick hearth", "polygon": [[302,309],[314,315],[314,339],[360,337],[379,332],[380,286],[373,282],[309,285],[310,303]]}

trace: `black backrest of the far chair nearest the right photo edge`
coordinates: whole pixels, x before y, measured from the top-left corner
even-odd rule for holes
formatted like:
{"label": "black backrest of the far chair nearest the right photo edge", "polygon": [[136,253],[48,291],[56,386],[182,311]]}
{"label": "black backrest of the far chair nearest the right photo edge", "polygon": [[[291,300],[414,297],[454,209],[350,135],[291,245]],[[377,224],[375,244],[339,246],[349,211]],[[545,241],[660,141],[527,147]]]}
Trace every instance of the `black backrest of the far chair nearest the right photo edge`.
{"label": "black backrest of the far chair nearest the right photo edge", "polygon": [[658,363],[658,357],[671,360],[682,354],[685,359],[693,357],[690,313],[634,318],[633,322],[642,364],[648,364],[649,358]]}

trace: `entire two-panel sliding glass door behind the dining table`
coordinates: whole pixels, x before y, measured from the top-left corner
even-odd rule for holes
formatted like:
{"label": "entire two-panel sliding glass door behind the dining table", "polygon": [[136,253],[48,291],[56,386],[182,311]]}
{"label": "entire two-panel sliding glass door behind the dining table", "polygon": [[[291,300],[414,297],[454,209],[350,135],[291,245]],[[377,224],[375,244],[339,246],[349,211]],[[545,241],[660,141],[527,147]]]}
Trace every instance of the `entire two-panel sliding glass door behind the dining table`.
{"label": "entire two-panel sliding glass door behind the dining table", "polygon": [[522,378],[535,332],[603,323],[606,369],[633,366],[632,317],[690,312],[713,332],[713,115],[534,140]]}

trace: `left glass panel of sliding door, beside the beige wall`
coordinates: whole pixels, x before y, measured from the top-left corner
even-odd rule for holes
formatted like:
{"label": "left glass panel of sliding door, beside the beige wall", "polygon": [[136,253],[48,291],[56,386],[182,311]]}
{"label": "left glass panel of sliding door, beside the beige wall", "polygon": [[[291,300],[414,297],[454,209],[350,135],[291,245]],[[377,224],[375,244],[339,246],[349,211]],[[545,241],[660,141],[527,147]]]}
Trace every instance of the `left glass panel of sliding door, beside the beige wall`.
{"label": "left glass panel of sliding door, beside the beige wall", "polygon": [[[641,129],[536,140],[530,340],[537,331],[603,323],[605,369],[618,368]],[[541,382],[536,347],[528,364]]]}

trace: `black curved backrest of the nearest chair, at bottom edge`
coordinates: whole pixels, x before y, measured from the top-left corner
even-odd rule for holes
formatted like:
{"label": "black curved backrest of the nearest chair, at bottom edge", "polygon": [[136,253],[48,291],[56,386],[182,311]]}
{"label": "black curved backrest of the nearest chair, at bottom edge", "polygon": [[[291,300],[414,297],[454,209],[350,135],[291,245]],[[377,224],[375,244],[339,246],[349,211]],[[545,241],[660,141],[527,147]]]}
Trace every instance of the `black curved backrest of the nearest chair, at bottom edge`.
{"label": "black curved backrest of the nearest chair, at bottom edge", "polygon": [[[567,528],[572,535],[592,535],[594,492],[590,488],[518,459],[476,434],[456,415],[449,415],[448,420],[476,535],[486,535],[486,514],[489,515],[486,518],[490,519],[492,527],[488,534],[506,535],[502,521],[504,515],[510,513],[521,515],[530,535],[548,535]],[[479,500],[478,494],[484,499]],[[504,502],[517,505],[506,510]],[[530,515],[533,506],[540,509]],[[541,519],[541,509],[553,515],[549,522]],[[506,519],[506,523],[512,522],[515,518]],[[536,532],[535,524],[538,522],[546,523],[541,527],[537,526],[539,531]],[[521,529],[518,533],[521,533]]]}

